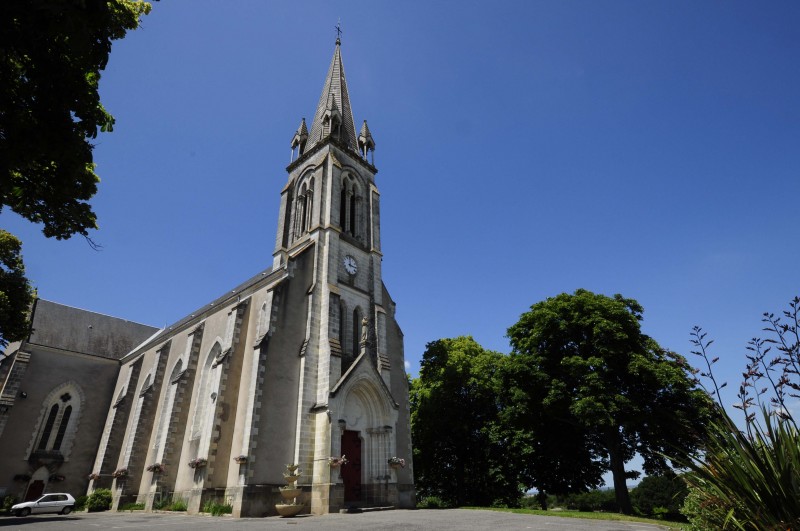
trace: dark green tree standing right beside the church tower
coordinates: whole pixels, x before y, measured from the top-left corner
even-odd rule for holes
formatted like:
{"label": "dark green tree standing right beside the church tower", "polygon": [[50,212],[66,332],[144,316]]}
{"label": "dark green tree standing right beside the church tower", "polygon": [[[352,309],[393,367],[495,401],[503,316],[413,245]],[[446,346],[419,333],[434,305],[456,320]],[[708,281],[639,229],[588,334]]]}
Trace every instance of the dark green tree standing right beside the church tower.
{"label": "dark green tree standing right beside the church tower", "polygon": [[411,386],[418,496],[448,505],[517,505],[516,460],[495,440],[497,374],[505,357],[471,337],[428,343]]}

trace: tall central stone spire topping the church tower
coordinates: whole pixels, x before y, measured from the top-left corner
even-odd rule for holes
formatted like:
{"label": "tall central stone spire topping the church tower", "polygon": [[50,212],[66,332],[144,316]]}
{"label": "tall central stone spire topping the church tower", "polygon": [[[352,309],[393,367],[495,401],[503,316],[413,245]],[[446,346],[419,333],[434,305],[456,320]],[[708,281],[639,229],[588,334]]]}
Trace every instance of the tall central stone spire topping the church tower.
{"label": "tall central stone spire topping the church tower", "polygon": [[306,150],[311,149],[329,135],[338,137],[341,143],[353,151],[358,150],[356,127],[353,121],[353,111],[350,109],[350,96],[347,93],[347,81],[344,77],[340,47],[341,40],[337,37],[331,66],[328,68],[317,111],[311,122],[311,133],[308,136]]}

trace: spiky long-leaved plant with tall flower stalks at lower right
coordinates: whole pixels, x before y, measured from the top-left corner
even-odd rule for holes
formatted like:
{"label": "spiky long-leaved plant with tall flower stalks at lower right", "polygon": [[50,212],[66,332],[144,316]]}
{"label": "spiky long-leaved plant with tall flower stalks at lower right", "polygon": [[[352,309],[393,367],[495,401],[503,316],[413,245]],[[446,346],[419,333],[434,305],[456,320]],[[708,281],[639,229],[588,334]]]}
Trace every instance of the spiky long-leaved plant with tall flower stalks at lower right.
{"label": "spiky long-leaved plant with tall flower stalks at lower right", "polygon": [[[707,426],[702,452],[684,456],[691,488],[684,508],[690,529],[800,529],[800,431],[791,412],[791,399],[800,399],[800,298],[795,297],[782,317],[765,313],[766,339],[747,346],[734,407],[744,413],[744,429],[725,410],[712,367],[705,333],[692,330],[694,354],[707,371],[700,376],[717,402],[718,415]],[[698,371],[699,372],[699,371]]]}

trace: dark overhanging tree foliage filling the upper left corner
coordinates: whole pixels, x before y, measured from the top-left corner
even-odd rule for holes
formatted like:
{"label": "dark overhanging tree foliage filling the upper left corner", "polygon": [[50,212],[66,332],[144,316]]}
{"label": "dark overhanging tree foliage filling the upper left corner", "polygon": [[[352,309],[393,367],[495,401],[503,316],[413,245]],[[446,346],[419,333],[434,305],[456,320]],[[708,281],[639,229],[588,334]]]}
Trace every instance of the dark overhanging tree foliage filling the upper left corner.
{"label": "dark overhanging tree foliage filling the upper left corner", "polygon": [[[92,243],[92,140],[114,125],[100,103],[100,71],[112,41],[149,11],[133,0],[0,2],[0,211],[41,223],[47,237],[80,234]],[[0,322],[0,336],[21,339],[6,324],[17,318]]]}

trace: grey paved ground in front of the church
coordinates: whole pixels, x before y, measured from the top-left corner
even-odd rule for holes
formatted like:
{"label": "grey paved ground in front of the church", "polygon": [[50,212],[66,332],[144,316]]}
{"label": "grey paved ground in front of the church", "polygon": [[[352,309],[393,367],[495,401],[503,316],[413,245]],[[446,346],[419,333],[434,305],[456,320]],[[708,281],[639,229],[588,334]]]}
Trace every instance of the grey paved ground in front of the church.
{"label": "grey paved ground in front of the church", "polygon": [[633,522],[578,520],[495,511],[380,511],[297,518],[230,518],[152,513],[73,513],[69,516],[34,515],[0,518],[0,528],[23,531],[84,531],[154,529],[155,531],[278,530],[327,531],[427,531],[533,530],[533,531],[657,531],[665,528]]}

